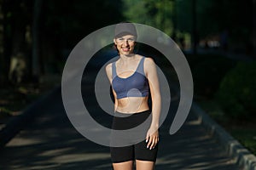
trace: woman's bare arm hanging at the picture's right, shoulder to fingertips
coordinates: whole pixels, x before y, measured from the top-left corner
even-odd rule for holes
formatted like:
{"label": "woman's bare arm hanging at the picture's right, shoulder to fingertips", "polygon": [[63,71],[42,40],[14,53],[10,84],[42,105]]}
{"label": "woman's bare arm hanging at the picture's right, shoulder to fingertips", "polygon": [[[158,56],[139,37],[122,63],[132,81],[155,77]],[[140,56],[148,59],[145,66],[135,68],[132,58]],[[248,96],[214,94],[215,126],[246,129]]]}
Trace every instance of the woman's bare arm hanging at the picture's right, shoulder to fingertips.
{"label": "woman's bare arm hanging at the picture's right, shoulder to fingertips", "polygon": [[152,99],[152,122],[148,129],[146,141],[148,142],[148,148],[151,150],[159,141],[159,120],[160,120],[160,109],[161,109],[161,95],[160,85],[157,76],[156,65],[154,60],[151,58],[145,59],[144,65],[146,77],[148,77],[148,83]]}

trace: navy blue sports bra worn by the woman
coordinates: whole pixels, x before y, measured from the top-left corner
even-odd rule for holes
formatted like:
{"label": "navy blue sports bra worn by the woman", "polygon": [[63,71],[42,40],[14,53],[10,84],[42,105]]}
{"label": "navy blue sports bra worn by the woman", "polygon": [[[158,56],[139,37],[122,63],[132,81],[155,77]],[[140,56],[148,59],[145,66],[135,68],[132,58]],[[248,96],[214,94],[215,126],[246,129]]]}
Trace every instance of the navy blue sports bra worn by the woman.
{"label": "navy blue sports bra worn by the woman", "polygon": [[117,99],[126,97],[148,96],[148,79],[144,73],[144,57],[140,60],[137,70],[130,76],[122,78],[117,76],[115,62],[112,64],[112,87]]}

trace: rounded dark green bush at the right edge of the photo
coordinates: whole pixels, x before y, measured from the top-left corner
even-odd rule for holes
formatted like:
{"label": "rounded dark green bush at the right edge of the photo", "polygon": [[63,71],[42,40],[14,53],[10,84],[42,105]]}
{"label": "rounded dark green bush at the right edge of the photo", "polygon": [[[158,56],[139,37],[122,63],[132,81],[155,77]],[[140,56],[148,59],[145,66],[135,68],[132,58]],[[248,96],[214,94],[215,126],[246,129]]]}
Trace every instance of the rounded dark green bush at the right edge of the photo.
{"label": "rounded dark green bush at the right edge of the photo", "polygon": [[250,118],[256,111],[256,62],[240,62],[222,80],[217,99],[232,118]]}

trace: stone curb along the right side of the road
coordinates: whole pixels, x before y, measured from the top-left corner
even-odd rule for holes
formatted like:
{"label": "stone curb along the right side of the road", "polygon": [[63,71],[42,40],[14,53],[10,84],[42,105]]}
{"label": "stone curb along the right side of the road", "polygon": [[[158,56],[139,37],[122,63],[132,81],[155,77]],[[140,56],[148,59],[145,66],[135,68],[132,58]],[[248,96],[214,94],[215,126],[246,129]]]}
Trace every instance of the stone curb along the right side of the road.
{"label": "stone curb along the right side of the road", "polygon": [[256,170],[256,156],[242,146],[236,139],[227,133],[223,127],[214,122],[210,116],[195,102],[191,106],[191,111],[199,117],[201,124],[207,127],[207,131],[218,139],[218,142],[224,146],[227,153],[232,156],[239,167],[245,170]]}

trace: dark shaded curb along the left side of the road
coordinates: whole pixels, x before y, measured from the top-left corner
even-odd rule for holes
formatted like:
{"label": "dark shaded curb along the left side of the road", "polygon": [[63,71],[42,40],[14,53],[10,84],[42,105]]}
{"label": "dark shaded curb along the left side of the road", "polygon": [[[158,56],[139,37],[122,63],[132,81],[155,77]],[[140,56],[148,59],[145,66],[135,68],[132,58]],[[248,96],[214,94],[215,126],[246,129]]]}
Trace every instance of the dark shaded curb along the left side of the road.
{"label": "dark shaded curb along the left side of the road", "polygon": [[20,130],[32,122],[35,116],[38,116],[40,111],[44,110],[44,105],[48,105],[49,100],[58,90],[60,90],[59,87],[54,88],[47,94],[44,94],[35,102],[28,105],[22,114],[11,118],[9,122],[7,122],[5,127],[0,131],[0,150],[3,149],[5,144],[9,143],[16,134],[20,133]]}

